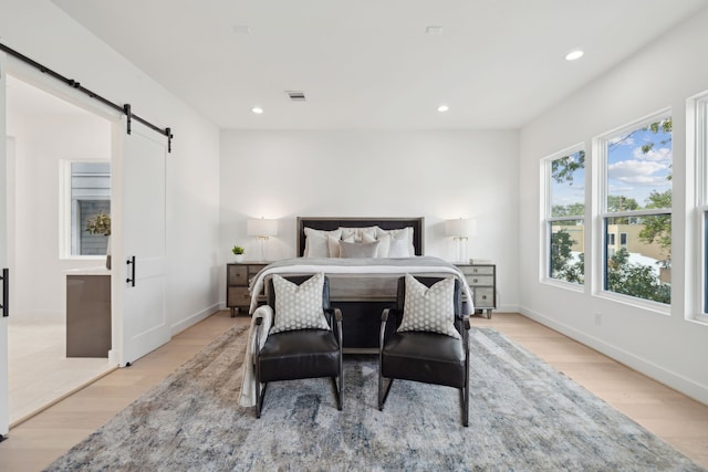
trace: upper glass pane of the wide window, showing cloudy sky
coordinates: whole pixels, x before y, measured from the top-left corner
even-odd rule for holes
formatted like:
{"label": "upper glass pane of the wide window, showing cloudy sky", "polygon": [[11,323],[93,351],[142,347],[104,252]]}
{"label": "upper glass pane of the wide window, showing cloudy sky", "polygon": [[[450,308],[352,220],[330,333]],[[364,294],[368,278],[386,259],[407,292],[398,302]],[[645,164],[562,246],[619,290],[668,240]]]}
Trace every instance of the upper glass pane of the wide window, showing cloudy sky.
{"label": "upper glass pane of the wide window, showing cloudy sky", "polygon": [[607,212],[671,207],[671,118],[607,139]]}

